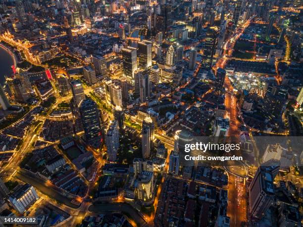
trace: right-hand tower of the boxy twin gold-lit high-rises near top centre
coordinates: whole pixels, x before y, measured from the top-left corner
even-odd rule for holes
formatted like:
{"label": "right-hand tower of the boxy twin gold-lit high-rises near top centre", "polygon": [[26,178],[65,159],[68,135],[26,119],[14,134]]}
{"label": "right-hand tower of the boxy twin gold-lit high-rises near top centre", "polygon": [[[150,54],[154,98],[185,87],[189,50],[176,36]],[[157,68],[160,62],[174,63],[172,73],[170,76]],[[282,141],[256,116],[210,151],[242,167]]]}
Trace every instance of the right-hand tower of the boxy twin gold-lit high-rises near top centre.
{"label": "right-hand tower of the boxy twin gold-lit high-rises near top centre", "polygon": [[152,66],[152,42],[146,40],[138,42],[138,58],[140,67]]}

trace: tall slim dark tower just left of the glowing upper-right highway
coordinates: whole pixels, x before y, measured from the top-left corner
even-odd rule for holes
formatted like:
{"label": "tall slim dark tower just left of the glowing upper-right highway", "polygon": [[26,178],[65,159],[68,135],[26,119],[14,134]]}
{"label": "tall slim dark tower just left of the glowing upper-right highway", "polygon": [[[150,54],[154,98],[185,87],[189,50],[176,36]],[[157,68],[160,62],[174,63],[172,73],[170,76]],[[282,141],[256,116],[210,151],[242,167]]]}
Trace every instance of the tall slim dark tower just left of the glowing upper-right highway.
{"label": "tall slim dark tower just left of the glowing upper-right highway", "polygon": [[203,58],[202,58],[202,67],[206,70],[209,70],[211,68],[215,43],[216,43],[215,31],[213,29],[209,29],[206,32],[205,46],[204,46]]}

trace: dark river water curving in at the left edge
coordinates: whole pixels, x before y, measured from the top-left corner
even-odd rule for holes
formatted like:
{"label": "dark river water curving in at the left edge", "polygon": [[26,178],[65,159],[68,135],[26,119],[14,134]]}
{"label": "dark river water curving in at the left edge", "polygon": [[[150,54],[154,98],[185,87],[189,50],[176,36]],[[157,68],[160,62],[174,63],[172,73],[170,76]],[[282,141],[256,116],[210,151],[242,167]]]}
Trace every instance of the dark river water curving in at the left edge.
{"label": "dark river water curving in at the left edge", "polygon": [[4,76],[10,76],[12,74],[11,66],[14,61],[12,56],[0,47],[0,84],[3,85],[5,82]]}

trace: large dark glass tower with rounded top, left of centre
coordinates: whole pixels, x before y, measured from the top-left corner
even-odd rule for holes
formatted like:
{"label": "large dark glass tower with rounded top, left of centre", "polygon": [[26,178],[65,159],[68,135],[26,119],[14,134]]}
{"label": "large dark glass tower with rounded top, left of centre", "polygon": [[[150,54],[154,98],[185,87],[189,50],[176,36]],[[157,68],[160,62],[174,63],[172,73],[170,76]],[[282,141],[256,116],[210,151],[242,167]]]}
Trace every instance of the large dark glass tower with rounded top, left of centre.
{"label": "large dark glass tower with rounded top, left of centre", "polygon": [[79,111],[86,142],[94,148],[100,148],[101,124],[97,104],[91,99],[85,99],[81,102]]}

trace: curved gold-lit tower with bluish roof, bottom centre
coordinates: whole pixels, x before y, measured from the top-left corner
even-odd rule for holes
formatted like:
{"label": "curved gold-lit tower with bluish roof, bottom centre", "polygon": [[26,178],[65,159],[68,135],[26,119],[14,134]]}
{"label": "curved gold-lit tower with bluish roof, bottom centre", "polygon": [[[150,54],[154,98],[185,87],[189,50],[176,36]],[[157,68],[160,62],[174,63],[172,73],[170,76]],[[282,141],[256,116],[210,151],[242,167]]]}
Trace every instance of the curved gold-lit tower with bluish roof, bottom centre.
{"label": "curved gold-lit tower with bluish roof, bottom centre", "polygon": [[153,172],[142,171],[138,178],[138,199],[141,202],[152,200],[153,197]]}

